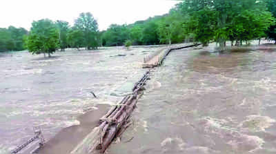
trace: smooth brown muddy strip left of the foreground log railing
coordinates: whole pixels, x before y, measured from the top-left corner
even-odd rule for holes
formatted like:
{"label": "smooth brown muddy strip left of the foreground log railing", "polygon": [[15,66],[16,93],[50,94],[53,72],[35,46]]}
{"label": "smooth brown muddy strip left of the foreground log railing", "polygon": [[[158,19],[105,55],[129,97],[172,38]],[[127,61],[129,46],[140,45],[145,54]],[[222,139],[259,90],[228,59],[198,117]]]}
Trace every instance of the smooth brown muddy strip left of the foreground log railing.
{"label": "smooth brown muddy strip left of the foreground log railing", "polygon": [[39,153],[41,154],[66,154],[70,153],[83,140],[83,138],[99,125],[99,119],[110,109],[110,105],[98,104],[97,109],[90,110],[80,115],[77,126],[63,128],[55,137],[46,142]]}

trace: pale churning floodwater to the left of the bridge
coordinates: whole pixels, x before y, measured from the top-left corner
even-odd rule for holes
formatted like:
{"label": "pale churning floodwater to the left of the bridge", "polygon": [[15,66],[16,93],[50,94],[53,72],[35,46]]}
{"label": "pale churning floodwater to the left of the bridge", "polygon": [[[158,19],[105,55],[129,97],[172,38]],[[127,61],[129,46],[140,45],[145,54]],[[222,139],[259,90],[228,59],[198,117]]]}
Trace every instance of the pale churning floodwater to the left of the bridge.
{"label": "pale churning floodwater to the left of the bridge", "polygon": [[144,56],[157,49],[66,51],[50,59],[0,53],[0,153],[26,142],[33,126],[48,140],[95,104],[119,102],[144,74]]}

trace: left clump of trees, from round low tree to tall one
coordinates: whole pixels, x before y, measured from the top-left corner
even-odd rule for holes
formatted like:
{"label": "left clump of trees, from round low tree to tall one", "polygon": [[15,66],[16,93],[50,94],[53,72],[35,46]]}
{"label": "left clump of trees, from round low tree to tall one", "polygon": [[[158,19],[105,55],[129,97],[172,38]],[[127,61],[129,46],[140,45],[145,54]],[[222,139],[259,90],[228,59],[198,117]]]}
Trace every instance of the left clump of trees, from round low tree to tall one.
{"label": "left clump of trees, from round low tree to tall one", "polygon": [[55,52],[58,48],[96,49],[100,44],[98,23],[90,14],[81,13],[71,28],[66,21],[53,22],[41,19],[32,23],[30,34],[26,37],[26,47],[32,54]]}

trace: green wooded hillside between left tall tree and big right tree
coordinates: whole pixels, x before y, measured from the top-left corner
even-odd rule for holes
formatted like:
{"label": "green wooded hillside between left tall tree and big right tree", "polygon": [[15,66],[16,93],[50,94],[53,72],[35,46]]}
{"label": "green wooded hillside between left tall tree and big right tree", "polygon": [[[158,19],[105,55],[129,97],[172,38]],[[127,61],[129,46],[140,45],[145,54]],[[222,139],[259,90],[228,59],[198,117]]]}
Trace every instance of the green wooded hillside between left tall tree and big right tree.
{"label": "green wooded hillside between left tall tree and big right tree", "polygon": [[184,17],[179,12],[156,16],[130,25],[111,25],[103,32],[103,46],[122,46],[126,40],[132,45],[176,44],[183,42]]}

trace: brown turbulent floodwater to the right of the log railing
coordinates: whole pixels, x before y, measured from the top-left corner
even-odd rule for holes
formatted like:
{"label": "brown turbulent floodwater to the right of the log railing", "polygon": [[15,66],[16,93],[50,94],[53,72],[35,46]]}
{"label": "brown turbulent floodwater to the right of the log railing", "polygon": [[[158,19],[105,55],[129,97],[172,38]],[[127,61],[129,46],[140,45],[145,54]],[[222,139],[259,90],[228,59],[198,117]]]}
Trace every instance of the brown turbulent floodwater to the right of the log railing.
{"label": "brown turbulent floodwater to the right of the log railing", "polygon": [[276,48],[175,50],[108,153],[276,153]]}

